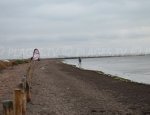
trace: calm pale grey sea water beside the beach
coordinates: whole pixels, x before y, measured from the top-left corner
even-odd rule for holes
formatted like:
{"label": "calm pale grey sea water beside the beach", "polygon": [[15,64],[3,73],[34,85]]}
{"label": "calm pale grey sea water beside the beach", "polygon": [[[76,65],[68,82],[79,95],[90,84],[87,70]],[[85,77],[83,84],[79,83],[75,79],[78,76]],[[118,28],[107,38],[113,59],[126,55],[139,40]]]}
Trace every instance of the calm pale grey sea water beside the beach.
{"label": "calm pale grey sea water beside the beach", "polygon": [[[79,67],[78,59],[66,59],[64,63]],[[150,55],[104,57],[82,59],[81,68],[103,71],[131,81],[150,84]]]}

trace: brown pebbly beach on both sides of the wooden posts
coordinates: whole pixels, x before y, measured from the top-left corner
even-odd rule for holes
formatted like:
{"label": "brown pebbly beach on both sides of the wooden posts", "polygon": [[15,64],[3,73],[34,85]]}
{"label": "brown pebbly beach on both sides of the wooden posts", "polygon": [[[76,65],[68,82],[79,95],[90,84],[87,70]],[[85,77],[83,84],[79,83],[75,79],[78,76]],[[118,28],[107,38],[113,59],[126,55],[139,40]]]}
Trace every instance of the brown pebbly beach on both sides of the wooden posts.
{"label": "brown pebbly beach on both sides of the wooden posts", "polygon": [[[2,101],[26,74],[28,64],[0,72]],[[36,63],[27,115],[150,115],[150,85],[114,79],[103,73],[81,70],[60,60]]]}

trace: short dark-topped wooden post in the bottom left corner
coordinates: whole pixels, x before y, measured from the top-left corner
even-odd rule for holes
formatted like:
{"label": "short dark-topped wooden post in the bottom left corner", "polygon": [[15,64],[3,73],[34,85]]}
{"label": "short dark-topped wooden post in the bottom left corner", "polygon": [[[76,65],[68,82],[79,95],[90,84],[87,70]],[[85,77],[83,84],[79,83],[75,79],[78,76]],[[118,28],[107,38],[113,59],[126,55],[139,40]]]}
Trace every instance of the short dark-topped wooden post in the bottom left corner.
{"label": "short dark-topped wooden post in the bottom left corner", "polygon": [[13,102],[11,100],[5,100],[3,103],[3,115],[14,115]]}

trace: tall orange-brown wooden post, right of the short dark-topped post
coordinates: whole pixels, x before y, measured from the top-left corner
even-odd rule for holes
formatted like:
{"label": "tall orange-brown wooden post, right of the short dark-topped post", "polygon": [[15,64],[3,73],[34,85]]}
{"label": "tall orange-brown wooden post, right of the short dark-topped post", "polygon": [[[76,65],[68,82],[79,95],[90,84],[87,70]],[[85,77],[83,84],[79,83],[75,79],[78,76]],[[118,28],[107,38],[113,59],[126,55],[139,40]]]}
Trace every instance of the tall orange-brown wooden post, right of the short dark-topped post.
{"label": "tall orange-brown wooden post, right of the short dark-topped post", "polygon": [[22,91],[15,89],[14,91],[14,115],[22,115]]}

